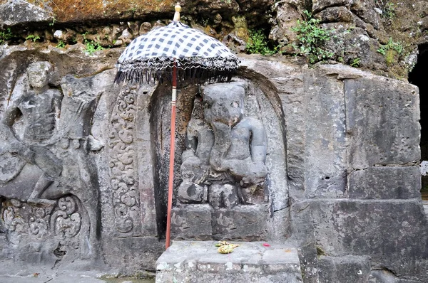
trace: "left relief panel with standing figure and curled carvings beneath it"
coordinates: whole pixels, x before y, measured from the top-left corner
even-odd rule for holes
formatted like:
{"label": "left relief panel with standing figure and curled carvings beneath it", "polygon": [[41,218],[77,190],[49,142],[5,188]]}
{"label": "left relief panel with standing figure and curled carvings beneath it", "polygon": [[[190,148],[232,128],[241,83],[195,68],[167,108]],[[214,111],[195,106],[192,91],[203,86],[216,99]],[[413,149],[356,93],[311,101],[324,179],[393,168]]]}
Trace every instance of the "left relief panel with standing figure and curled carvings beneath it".
{"label": "left relief panel with standing figure and curled carvings beneath it", "polygon": [[91,135],[103,91],[94,88],[94,77],[66,75],[62,94],[49,85],[53,71],[49,62],[29,65],[0,122],[0,144],[6,145],[0,163],[7,165],[0,172],[0,194],[11,201],[3,222],[16,244],[21,237],[54,237],[61,247],[80,247],[83,258],[96,257],[98,176],[88,154],[103,147]]}

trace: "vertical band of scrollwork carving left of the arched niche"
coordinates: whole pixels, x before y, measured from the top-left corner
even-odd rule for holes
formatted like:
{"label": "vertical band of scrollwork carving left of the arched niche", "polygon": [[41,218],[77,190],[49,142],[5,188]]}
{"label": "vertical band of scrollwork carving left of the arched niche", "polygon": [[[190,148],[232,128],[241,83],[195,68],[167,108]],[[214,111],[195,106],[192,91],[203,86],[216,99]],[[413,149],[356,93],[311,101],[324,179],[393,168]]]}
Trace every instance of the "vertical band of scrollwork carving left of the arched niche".
{"label": "vertical band of scrollwork carving left of the arched niche", "polygon": [[110,119],[110,168],[113,188],[114,224],[118,234],[141,233],[141,208],[136,164],[137,86],[118,95]]}

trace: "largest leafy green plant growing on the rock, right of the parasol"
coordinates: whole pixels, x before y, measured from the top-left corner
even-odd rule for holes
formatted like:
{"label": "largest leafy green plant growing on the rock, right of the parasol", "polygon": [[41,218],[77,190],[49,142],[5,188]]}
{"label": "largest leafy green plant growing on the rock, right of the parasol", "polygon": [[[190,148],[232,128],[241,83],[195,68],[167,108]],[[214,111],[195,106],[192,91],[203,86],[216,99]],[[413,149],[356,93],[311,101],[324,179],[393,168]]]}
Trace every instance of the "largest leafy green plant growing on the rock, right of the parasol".
{"label": "largest leafy green plant growing on the rock, right of the parasol", "polygon": [[326,41],[330,40],[330,31],[320,26],[320,20],[312,17],[308,11],[303,11],[305,21],[297,21],[292,31],[297,33],[298,45],[293,46],[300,55],[305,55],[309,63],[314,64],[332,58],[333,53],[324,48]]}

